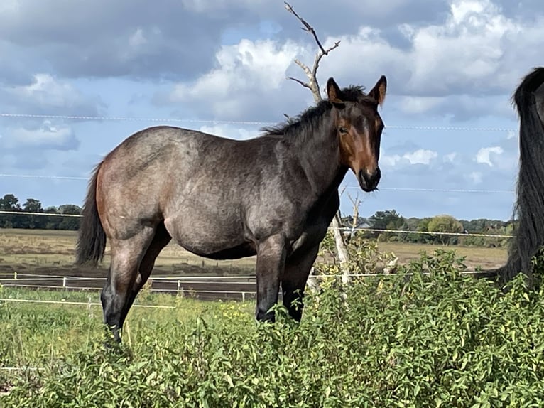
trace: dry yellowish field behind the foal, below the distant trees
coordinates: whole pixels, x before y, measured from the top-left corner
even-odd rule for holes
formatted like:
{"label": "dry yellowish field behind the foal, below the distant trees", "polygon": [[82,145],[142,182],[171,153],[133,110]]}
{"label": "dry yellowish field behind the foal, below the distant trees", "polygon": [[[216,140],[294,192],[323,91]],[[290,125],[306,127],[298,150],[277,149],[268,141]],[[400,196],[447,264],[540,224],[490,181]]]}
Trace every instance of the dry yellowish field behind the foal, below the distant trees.
{"label": "dry yellowish field behind the foal, below the distant trees", "polygon": [[[47,272],[51,274],[78,274],[73,267],[76,232],[53,230],[0,229],[0,272]],[[393,252],[400,264],[418,259],[420,252],[432,253],[440,245],[380,242],[381,252]],[[469,268],[498,267],[506,261],[504,248],[451,247],[459,256],[466,257]],[[103,268],[109,264],[109,253]],[[170,242],[156,262],[154,274],[248,274],[254,272],[255,258],[234,261],[214,261],[197,257],[179,245]],[[104,272],[104,270],[102,270]]]}

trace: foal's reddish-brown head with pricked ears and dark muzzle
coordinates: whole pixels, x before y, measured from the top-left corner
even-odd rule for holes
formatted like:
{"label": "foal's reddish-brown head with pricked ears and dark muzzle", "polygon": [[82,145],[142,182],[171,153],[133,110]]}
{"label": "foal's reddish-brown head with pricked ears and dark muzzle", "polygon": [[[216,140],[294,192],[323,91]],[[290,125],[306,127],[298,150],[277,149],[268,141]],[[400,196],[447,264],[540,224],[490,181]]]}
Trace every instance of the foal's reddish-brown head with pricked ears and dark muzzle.
{"label": "foal's reddish-brown head with pricked ears and dark muzzle", "polygon": [[332,119],[340,146],[340,161],[352,169],[364,191],[375,190],[381,177],[378,166],[383,122],[378,113],[386,97],[385,76],[367,94],[347,95],[333,78],[327,81],[327,96],[332,103]]}

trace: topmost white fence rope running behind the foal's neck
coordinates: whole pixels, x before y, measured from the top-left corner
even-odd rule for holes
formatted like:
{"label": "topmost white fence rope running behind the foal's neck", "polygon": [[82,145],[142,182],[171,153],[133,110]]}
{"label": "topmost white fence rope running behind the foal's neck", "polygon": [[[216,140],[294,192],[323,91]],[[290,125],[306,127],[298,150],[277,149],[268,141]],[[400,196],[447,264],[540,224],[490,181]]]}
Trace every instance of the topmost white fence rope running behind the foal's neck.
{"label": "topmost white fence rope running behind the foal's neck", "polygon": [[[63,114],[27,114],[27,113],[0,113],[0,117],[28,118],[28,119],[67,119],[67,120],[103,120],[116,122],[187,122],[207,124],[252,124],[273,125],[277,122],[260,122],[248,120],[220,120],[220,119],[178,119],[178,118],[153,118],[153,117],[107,117]],[[386,129],[410,129],[410,130],[447,130],[447,131],[516,131],[508,127],[459,127],[459,126],[418,126],[418,125],[387,125]]]}

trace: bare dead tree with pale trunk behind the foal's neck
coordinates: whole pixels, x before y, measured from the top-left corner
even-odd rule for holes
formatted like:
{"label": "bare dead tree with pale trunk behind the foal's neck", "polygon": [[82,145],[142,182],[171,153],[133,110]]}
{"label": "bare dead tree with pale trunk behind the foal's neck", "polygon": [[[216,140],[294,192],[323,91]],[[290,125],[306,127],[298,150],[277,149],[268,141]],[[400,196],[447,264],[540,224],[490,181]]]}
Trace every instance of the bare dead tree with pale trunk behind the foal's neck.
{"label": "bare dead tree with pale trunk behind the foal's neck", "polygon": [[[295,63],[300,68],[302,68],[304,73],[306,74],[307,81],[299,80],[295,77],[288,77],[288,80],[293,80],[295,82],[298,82],[303,87],[308,88],[312,92],[315,103],[319,103],[323,100],[323,98],[321,97],[319,83],[317,82],[317,68],[319,68],[321,59],[325,55],[329,55],[332,50],[338,48],[338,46],[340,45],[340,41],[335,42],[334,45],[332,45],[330,48],[323,48],[323,45],[319,41],[319,38],[317,38],[317,33],[315,33],[314,28],[310,26],[310,24],[308,24],[308,22],[306,22],[304,18],[298,15],[295,10],[293,10],[293,7],[288,4],[287,1],[285,1],[285,9],[289,11],[290,14],[293,14],[293,16],[298,18],[298,21],[300,21],[300,23],[302,23],[303,25],[303,27],[301,27],[303,31],[312,34],[315,42],[317,43],[317,47],[319,48],[319,50],[317,50],[317,53],[315,54],[312,68],[308,67],[308,65],[306,65],[302,61],[295,59]],[[347,284],[349,283],[349,281],[351,281],[351,277],[349,277],[349,269],[347,267],[349,255],[347,253],[346,241],[344,240],[344,235],[342,234],[342,215],[340,213],[340,210],[338,210],[337,213],[334,215],[331,226],[334,231],[334,242],[336,243],[338,260],[340,262],[340,269],[342,270],[342,283]]]}

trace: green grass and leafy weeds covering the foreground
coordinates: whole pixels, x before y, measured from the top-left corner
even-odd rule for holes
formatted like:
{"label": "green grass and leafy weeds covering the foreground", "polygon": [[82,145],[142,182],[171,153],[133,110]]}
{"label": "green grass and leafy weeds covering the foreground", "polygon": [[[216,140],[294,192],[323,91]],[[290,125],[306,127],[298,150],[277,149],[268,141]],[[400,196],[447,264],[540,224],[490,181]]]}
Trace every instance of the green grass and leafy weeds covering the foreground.
{"label": "green grass and leafy weeds covering the foreground", "polygon": [[[543,406],[544,290],[503,293],[463,268],[439,251],[346,289],[327,279],[300,324],[144,293],[174,308],[131,310],[113,350],[100,308],[2,303],[0,365],[40,370],[0,370],[0,407]],[[0,297],[22,296],[88,294]]]}

